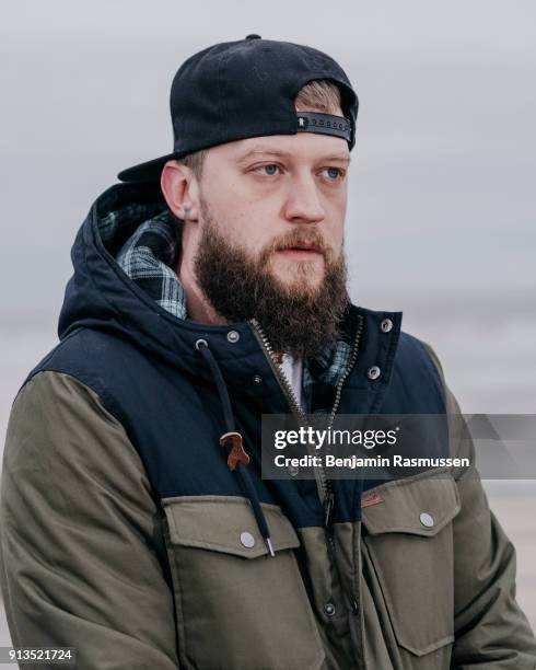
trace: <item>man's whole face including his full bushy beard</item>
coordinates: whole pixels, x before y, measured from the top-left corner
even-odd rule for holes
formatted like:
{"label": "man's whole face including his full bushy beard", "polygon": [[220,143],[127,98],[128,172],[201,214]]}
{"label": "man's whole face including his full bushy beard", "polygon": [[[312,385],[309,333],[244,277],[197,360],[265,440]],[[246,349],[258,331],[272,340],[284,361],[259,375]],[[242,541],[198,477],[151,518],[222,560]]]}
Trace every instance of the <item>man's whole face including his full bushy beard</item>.
{"label": "man's whole face including his full bushy beard", "polygon": [[230,142],[206,158],[183,263],[220,317],[255,317],[275,351],[308,357],[339,336],[348,163],[345,140],[313,134]]}

